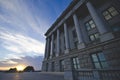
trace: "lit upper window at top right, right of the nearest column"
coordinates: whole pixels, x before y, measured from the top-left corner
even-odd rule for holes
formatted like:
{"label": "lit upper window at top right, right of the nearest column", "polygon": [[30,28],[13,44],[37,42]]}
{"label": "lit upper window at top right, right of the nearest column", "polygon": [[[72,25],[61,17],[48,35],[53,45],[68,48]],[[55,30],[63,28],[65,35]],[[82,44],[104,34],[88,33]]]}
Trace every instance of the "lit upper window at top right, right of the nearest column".
{"label": "lit upper window at top right, right of the nearest column", "polygon": [[106,20],[112,19],[114,16],[118,15],[118,11],[112,6],[109,7],[107,10],[105,10],[103,13],[103,16]]}

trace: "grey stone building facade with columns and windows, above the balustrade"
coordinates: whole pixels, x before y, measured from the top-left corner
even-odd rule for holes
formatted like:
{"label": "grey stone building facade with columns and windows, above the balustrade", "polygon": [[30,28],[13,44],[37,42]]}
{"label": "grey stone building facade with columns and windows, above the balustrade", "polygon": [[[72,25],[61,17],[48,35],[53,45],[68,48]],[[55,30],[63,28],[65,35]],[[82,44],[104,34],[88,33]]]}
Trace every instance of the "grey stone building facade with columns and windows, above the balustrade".
{"label": "grey stone building facade with columns and windows, above the balustrade", "polygon": [[119,69],[120,0],[73,0],[45,36],[42,71]]}

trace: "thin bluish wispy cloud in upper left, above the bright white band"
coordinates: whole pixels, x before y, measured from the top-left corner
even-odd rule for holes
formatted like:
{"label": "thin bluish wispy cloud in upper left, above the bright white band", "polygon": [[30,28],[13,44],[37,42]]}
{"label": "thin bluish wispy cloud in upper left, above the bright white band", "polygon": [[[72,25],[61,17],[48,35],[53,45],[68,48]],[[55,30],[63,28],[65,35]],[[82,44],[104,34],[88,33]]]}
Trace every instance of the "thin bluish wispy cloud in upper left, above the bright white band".
{"label": "thin bluish wispy cloud in upper left, above the bright white band", "polygon": [[32,13],[25,0],[0,0],[0,8],[0,21],[10,24],[10,27],[14,29],[19,28],[18,32],[29,33],[34,31],[44,36],[43,33],[49,26],[42,16]]}

